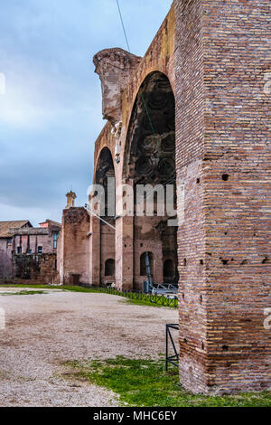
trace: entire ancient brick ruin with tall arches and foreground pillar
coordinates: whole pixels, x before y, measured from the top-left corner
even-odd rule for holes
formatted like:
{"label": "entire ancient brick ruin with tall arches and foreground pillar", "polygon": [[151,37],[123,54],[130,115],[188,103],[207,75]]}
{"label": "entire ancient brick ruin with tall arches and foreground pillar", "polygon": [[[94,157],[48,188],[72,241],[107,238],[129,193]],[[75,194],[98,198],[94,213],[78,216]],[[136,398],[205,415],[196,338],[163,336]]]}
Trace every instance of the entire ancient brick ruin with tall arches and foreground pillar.
{"label": "entire ancient brick ruin with tall arches and foreground pillar", "polygon": [[143,58],[121,49],[94,58],[107,119],[94,183],[107,189],[115,176],[135,188],[175,175],[184,220],[169,228],[166,215],[116,211],[106,214],[114,231],[69,205],[61,282],[140,289],[150,252],[154,280],[179,282],[180,380],[192,392],[270,386],[268,13],[267,0],[175,0]]}

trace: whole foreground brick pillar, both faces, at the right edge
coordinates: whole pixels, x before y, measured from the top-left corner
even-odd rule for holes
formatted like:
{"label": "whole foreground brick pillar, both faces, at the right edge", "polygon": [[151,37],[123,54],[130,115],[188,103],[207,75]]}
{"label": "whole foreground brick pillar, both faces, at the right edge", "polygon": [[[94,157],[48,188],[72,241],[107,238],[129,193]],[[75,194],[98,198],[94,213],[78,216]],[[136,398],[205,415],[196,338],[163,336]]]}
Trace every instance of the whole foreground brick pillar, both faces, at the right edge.
{"label": "whole foreground brick pillar, both faces, at the right edge", "polygon": [[180,378],[194,392],[270,386],[268,9],[175,2]]}

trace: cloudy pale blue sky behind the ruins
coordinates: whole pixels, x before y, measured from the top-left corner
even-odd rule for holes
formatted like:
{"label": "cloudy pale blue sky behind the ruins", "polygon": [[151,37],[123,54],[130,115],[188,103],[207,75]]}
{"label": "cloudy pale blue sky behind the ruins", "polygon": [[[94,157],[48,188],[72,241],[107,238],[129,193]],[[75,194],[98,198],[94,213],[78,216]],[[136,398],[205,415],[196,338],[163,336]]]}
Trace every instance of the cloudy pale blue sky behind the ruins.
{"label": "cloudy pale blue sky behind the ruins", "polygon": [[[119,0],[131,51],[144,55],[172,0]],[[61,220],[87,200],[105,121],[92,57],[126,49],[116,0],[0,0],[0,220]],[[1,79],[2,76],[2,79]]]}

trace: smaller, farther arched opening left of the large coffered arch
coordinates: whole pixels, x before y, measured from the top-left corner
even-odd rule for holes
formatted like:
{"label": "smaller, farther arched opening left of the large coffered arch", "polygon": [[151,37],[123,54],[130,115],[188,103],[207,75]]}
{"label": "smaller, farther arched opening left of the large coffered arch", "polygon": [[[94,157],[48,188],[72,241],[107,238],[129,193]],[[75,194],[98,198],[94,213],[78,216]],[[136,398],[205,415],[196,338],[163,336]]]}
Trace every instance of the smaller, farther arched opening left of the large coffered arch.
{"label": "smaller, farther arched opening left of the large coffered arch", "polygon": [[[95,183],[104,188],[105,196],[102,198],[101,218],[114,226],[116,215],[116,181],[115,168],[111,151],[104,147],[99,156],[95,173]],[[100,286],[107,286],[107,278],[115,277],[115,231],[105,222],[99,222],[99,263]]]}

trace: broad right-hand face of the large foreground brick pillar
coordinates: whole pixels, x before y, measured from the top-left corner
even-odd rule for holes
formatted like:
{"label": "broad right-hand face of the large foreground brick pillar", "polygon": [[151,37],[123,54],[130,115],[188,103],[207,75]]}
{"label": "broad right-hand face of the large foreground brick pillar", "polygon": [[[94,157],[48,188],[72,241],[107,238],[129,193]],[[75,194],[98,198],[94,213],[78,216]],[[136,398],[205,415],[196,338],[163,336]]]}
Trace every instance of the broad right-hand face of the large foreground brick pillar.
{"label": "broad right-hand face of the large foreground brick pillar", "polygon": [[271,386],[264,328],[271,305],[270,2],[204,1],[203,8],[210,385],[263,391]]}

